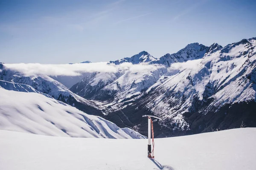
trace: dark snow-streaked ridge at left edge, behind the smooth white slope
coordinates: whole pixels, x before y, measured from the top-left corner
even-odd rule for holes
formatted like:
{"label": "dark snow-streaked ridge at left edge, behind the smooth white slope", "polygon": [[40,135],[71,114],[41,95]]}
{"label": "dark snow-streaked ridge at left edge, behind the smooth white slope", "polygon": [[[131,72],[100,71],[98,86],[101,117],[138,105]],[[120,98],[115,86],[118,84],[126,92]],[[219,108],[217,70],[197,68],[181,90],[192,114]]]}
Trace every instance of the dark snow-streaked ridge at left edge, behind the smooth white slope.
{"label": "dark snow-streaked ridge at left edge, behind the smooth white slope", "polygon": [[13,71],[0,64],[0,80],[29,85],[36,91],[48,94],[89,114],[102,115],[106,111],[104,106],[74,94],[66,86],[45,74],[26,76],[22,72]]}

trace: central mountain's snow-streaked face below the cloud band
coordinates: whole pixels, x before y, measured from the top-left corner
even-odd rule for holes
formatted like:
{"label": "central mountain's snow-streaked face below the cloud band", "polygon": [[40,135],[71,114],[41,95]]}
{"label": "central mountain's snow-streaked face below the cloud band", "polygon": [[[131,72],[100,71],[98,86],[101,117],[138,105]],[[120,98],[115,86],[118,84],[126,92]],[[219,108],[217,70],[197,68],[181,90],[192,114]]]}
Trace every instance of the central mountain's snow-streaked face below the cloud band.
{"label": "central mountain's snow-streaked face below the cloud band", "polygon": [[[140,65],[144,64],[138,64]],[[122,103],[147,90],[166,72],[166,67],[163,65],[148,66],[148,69],[142,71],[119,70],[116,73],[93,73],[73,85],[70,91],[85,99],[108,101],[110,102],[108,105]]]}

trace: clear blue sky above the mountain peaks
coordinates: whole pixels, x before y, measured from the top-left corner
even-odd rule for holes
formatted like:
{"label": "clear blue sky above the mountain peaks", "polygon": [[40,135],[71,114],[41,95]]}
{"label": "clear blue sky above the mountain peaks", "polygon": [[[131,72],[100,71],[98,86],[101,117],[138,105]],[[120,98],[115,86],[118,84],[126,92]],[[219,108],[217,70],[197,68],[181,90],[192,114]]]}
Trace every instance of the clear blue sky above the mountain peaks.
{"label": "clear blue sky above the mountain peaks", "polygon": [[256,37],[255,0],[0,0],[0,62],[109,61]]}

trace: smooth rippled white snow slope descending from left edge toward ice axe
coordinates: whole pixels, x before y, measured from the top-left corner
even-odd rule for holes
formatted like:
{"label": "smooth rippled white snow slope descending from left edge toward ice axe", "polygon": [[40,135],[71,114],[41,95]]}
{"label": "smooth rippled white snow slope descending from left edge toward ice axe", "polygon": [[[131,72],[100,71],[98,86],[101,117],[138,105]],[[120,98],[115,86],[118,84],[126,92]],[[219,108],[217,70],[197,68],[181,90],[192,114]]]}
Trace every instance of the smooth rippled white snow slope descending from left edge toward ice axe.
{"label": "smooth rippled white snow slope descending from left edge toward ice axe", "polygon": [[0,129],[50,136],[140,139],[144,136],[119,128],[98,116],[38,93],[0,88]]}

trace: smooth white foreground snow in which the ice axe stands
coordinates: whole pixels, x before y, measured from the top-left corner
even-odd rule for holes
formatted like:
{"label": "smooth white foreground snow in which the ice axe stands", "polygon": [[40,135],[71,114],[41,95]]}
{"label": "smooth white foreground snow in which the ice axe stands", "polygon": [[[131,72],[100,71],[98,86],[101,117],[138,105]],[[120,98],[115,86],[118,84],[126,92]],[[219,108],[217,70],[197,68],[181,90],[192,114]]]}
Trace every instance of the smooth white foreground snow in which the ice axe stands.
{"label": "smooth white foreground snow in which the ice axe stands", "polygon": [[256,128],[155,139],[89,139],[0,130],[3,170],[255,170]]}

